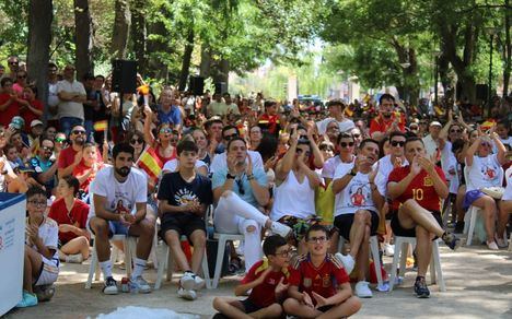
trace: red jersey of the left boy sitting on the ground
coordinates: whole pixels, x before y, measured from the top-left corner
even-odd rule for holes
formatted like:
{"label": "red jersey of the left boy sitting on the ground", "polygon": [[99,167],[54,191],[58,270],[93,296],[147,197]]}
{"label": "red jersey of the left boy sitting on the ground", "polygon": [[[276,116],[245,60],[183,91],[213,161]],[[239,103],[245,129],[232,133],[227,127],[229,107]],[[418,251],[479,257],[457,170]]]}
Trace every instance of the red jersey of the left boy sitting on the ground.
{"label": "red jersey of the left boy sitting on the ground", "polygon": [[[261,275],[268,265],[264,263],[264,261],[256,262],[247,272],[245,277],[242,280],[241,284],[248,284],[254,282]],[[251,292],[248,298],[253,302],[256,306],[261,308],[268,307],[271,304],[276,303],[276,286],[278,285],[281,277],[284,277],[283,283],[287,283],[287,275],[282,272],[270,272],[266,277],[263,284],[257,285]]]}

